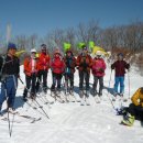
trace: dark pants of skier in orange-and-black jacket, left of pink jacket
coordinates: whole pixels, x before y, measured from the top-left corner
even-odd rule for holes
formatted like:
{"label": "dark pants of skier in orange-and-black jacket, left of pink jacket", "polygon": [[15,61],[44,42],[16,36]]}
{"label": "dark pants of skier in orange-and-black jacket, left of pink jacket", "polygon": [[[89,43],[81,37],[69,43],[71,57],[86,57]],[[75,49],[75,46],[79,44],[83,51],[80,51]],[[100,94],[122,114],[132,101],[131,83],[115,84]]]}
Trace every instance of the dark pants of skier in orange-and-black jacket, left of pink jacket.
{"label": "dark pants of skier in orange-and-black jacket, left of pink jacket", "polygon": [[86,90],[89,90],[89,73],[87,70],[79,70],[79,90],[84,89],[84,79],[86,81]]}

